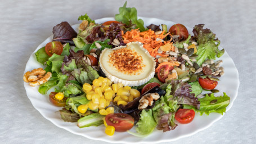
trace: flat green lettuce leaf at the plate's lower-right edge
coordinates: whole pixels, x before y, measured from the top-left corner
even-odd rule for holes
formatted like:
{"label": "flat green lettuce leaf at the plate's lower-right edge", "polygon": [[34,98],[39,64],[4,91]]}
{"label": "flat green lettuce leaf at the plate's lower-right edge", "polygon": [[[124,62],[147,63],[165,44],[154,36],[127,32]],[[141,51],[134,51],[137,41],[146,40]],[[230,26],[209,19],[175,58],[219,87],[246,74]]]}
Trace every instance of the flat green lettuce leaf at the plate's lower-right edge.
{"label": "flat green lettuce leaf at the plate's lower-right edge", "polygon": [[[194,106],[189,105],[183,105],[184,109],[193,109],[196,112],[200,112],[200,115],[203,115],[205,113],[206,115],[209,115],[210,113],[219,113],[222,114],[226,113],[226,107],[230,104],[230,97],[226,95],[226,93],[223,92],[223,96],[215,97],[214,93],[212,93],[210,96],[206,94],[204,98],[199,98],[200,101],[200,109],[195,109]],[[211,101],[217,100],[215,104],[210,104]]]}

